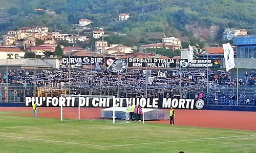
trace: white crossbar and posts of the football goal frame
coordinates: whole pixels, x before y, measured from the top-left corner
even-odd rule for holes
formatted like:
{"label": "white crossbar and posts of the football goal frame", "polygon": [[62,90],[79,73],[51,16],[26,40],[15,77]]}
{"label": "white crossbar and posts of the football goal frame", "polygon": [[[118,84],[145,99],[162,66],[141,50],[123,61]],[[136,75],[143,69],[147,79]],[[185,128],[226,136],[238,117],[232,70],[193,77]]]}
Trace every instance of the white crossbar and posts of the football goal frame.
{"label": "white crossbar and posts of the football goal frame", "polygon": [[[75,97],[75,98],[111,98],[114,99],[115,96],[102,96],[102,95],[65,95],[61,94],[60,97]],[[60,105],[60,120],[63,121],[63,106]],[[78,102],[78,120],[80,120],[80,103]],[[113,100],[113,124],[115,124],[115,103]]]}

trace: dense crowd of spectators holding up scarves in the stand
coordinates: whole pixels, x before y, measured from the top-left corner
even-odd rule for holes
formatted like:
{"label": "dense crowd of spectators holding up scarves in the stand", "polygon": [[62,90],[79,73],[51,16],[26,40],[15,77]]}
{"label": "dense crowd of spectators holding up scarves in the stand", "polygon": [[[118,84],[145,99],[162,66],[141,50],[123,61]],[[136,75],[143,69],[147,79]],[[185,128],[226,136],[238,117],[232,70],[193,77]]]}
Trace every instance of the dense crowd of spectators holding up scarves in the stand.
{"label": "dense crowd of spectators holding up scarves in the stand", "polygon": [[[36,86],[48,86],[54,83],[70,89],[70,94],[115,95],[119,97],[138,97],[145,95],[145,89],[147,89],[147,97],[166,96],[167,98],[179,96],[180,91],[188,93],[183,94],[183,98],[195,98],[196,92],[205,91],[206,88],[215,91],[237,86],[236,78],[231,77],[230,72],[222,70],[209,70],[208,76],[207,70],[203,69],[182,70],[181,72],[179,70],[159,71],[148,70],[145,72],[143,70],[128,70],[126,73],[118,75],[105,69],[97,71],[90,69],[55,69],[37,70],[35,74],[33,70],[17,69],[8,70],[8,73],[0,73],[0,82],[6,83],[6,78],[8,77],[8,83],[10,85],[19,85],[22,86],[22,89],[26,89],[28,86],[34,86],[34,84]],[[244,78],[239,78],[238,85],[255,86],[255,76],[256,73],[254,71],[250,73],[245,72]],[[151,80],[148,78],[151,78]],[[117,91],[120,91],[119,95]],[[189,92],[194,93],[189,95]],[[25,93],[23,90],[17,91],[16,93],[18,97],[27,94],[33,95],[34,93],[33,91],[32,93]],[[6,96],[3,91],[1,95],[2,99]],[[230,94],[226,96],[211,94],[208,95],[208,101],[210,99],[214,103],[216,101],[215,99],[222,99],[226,102],[226,99],[229,97],[232,96]],[[231,102],[234,100],[236,99],[231,100]]]}

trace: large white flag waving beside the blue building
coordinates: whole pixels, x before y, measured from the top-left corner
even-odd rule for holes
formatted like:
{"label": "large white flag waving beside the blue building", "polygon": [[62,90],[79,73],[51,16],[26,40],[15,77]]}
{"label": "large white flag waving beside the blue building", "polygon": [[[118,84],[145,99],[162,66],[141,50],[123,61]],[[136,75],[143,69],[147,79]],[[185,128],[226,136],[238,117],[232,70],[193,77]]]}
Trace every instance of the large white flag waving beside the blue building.
{"label": "large white flag waving beside the blue building", "polygon": [[224,51],[224,58],[225,58],[225,65],[226,65],[226,71],[234,68],[234,50],[231,47],[230,43],[224,43],[222,44],[223,51]]}

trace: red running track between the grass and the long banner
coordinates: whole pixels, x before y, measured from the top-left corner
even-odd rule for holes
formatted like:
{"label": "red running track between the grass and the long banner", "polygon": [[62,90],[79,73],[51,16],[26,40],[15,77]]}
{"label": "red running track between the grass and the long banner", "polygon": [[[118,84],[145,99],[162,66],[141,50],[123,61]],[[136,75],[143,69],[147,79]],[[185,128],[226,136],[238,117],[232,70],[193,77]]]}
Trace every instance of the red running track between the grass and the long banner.
{"label": "red running track between the grass and the long banner", "polygon": [[[100,118],[102,108],[81,108],[81,119]],[[31,111],[15,116],[33,116],[30,107],[0,107],[0,111]],[[166,110],[168,111],[168,110]],[[38,107],[38,117],[60,118],[59,107]],[[77,108],[63,109],[63,118],[78,118]],[[153,121],[168,124],[168,120]],[[210,127],[256,131],[256,112],[209,111],[209,110],[175,110],[175,124],[181,126]]]}

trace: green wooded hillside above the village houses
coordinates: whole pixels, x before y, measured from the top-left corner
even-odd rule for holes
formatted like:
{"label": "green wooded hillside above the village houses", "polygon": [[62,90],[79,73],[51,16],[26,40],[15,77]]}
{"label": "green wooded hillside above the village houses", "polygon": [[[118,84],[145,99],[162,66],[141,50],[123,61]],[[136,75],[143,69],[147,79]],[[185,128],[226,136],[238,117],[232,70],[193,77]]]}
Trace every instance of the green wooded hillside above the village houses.
{"label": "green wooded hillside above the village houses", "polygon": [[[88,18],[93,20],[92,28],[104,26],[107,31],[127,34],[132,38],[131,45],[154,41],[152,36],[144,37],[148,32],[206,41],[220,39],[224,27],[256,33],[253,0],[0,0],[0,3],[2,32],[35,25],[70,32],[79,19]],[[56,14],[35,12],[37,8]],[[118,21],[120,13],[129,13],[131,17]]]}

